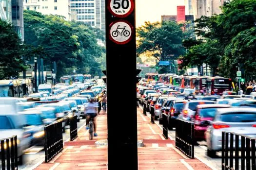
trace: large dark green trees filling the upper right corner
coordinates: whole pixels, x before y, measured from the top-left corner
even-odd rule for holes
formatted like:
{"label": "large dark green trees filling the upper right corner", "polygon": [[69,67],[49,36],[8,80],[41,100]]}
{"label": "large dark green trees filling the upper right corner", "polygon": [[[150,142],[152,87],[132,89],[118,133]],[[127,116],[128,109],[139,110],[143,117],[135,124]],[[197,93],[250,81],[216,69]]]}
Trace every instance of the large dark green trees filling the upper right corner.
{"label": "large dark green trees filling the upper right corner", "polygon": [[183,43],[187,53],[180,57],[180,68],[207,63],[213,74],[235,78],[236,67],[243,64],[247,76],[255,75],[256,0],[232,0],[220,15],[195,22],[195,33],[202,40]]}

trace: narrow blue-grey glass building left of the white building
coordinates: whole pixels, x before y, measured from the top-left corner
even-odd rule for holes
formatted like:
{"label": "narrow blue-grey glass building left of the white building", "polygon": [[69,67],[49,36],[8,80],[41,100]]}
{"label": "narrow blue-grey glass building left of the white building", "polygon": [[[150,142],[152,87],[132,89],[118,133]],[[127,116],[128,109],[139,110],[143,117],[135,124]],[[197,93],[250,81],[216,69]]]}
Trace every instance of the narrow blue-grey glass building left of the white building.
{"label": "narrow blue-grey glass building left of the white building", "polygon": [[24,24],[23,24],[23,0],[12,1],[12,24],[20,37],[24,41]]}

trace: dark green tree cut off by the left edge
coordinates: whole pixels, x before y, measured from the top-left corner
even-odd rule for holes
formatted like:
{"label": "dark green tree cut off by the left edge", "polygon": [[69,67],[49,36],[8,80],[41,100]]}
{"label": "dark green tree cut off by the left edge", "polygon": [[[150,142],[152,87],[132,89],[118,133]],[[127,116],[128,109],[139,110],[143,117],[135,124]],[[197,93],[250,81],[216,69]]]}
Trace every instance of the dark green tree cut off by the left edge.
{"label": "dark green tree cut off by the left edge", "polygon": [[0,20],[0,79],[16,78],[26,69],[21,57],[23,46],[11,24]]}

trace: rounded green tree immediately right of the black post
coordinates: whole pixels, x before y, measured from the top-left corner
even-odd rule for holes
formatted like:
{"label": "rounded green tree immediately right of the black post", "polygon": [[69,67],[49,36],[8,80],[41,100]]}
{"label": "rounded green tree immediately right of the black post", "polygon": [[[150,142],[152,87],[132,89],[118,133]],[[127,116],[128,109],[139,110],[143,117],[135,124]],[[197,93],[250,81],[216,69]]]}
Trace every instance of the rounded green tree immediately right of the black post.
{"label": "rounded green tree immediately right of the black post", "polygon": [[175,60],[184,53],[182,40],[185,37],[181,27],[174,21],[145,22],[137,29],[137,53],[154,56],[160,60]]}

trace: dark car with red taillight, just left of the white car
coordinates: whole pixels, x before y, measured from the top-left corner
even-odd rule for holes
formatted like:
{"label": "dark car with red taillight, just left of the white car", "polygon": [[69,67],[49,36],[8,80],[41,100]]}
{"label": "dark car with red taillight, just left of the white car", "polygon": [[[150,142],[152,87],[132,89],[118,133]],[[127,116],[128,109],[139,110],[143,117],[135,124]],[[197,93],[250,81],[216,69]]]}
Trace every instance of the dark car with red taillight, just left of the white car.
{"label": "dark car with red taillight, just left of the white car", "polygon": [[173,130],[173,128],[176,127],[177,117],[179,114],[182,113],[182,108],[183,108],[185,102],[187,102],[187,100],[177,100],[176,99],[171,104],[169,111],[167,110],[168,129],[169,130]]}

